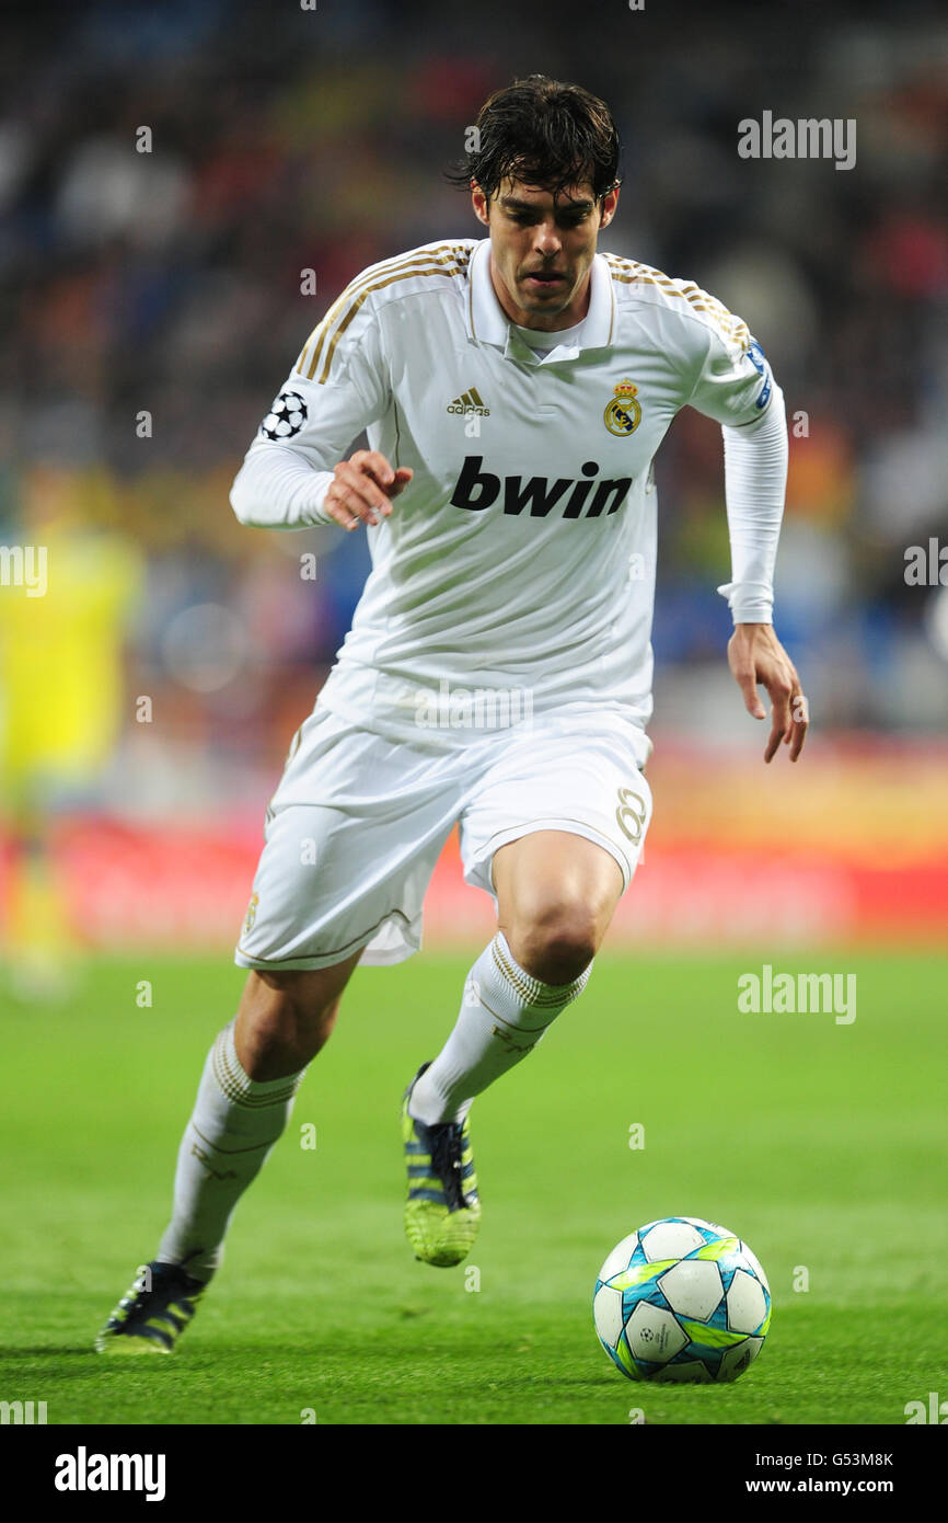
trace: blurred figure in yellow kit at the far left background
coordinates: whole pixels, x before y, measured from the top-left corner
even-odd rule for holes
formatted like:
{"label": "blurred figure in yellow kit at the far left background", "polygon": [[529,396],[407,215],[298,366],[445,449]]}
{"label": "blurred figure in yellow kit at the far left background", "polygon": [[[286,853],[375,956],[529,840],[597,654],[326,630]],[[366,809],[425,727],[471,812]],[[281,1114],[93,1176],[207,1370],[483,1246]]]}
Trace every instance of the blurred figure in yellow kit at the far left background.
{"label": "blurred figure in yellow kit at the far left background", "polygon": [[[32,469],[17,544],[0,547],[0,790],[9,990],[68,990],[79,928],[53,851],[56,809],[94,787],[123,717],[123,643],[142,586],[125,538],[88,527],[81,478]],[[12,536],[11,536],[12,539]]]}

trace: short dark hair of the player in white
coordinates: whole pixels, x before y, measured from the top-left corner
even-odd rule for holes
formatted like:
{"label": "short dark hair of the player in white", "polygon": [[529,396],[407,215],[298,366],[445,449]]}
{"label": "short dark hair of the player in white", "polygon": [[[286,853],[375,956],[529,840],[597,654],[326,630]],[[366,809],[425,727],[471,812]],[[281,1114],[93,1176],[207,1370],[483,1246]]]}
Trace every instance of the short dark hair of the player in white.
{"label": "short dark hair of the player in white", "polygon": [[609,107],[580,85],[546,75],[514,79],[484,102],[472,137],[447,180],[461,189],[476,180],[488,200],[508,178],[554,195],[589,183],[596,201],[619,184],[616,125]]}

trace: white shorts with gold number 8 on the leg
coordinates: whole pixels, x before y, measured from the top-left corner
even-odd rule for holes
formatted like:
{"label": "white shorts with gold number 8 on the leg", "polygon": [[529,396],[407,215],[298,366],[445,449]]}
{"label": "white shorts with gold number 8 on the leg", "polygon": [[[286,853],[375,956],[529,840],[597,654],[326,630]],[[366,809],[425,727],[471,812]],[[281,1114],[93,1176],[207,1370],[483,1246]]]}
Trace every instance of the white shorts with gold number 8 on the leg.
{"label": "white shorts with gold number 8 on the leg", "polygon": [[393,743],[317,705],[266,812],[263,853],[234,961],[312,969],[365,947],[400,963],[422,946],[422,903],[460,825],[464,880],[493,892],[493,854],[534,830],[609,851],[622,892],[651,792],[650,743],[618,714],[534,717],[463,745]]}

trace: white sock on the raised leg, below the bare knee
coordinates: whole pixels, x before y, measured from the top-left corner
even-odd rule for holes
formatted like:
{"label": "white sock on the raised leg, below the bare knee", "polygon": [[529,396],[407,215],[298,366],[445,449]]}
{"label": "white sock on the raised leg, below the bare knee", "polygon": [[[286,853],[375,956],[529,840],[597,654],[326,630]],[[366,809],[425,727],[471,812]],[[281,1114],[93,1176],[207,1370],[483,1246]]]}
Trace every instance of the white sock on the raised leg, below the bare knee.
{"label": "white sock on the raised leg, below the bare knee", "polygon": [[592,963],[571,984],[542,984],[525,973],[498,931],[464,982],[457,1025],[411,1094],[415,1121],[461,1121],[475,1095],[537,1045],[583,993]]}

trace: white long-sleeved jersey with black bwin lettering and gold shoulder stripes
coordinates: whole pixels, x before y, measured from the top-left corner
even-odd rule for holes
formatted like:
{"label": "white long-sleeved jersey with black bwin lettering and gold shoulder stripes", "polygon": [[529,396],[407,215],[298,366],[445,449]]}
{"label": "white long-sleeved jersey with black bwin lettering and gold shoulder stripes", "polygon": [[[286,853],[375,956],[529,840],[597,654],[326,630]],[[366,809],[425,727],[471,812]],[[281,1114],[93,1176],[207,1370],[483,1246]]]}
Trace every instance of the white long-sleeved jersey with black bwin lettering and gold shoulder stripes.
{"label": "white long-sleeved jersey with black bwin lettering and gold shoulder stripes", "polygon": [[425,694],[510,688],[520,717],[526,702],[644,731],[651,461],[686,405],[727,443],[721,591],[735,620],[771,617],[787,426],[746,324],[695,285],[596,254],[580,329],[539,353],[522,335],[490,239],[371,265],[307,340],[234,481],[242,522],[292,528],[326,521],[332,469],[364,428],[414,471],[367,528],[371,573],[320,696],[355,723],[418,739]]}

